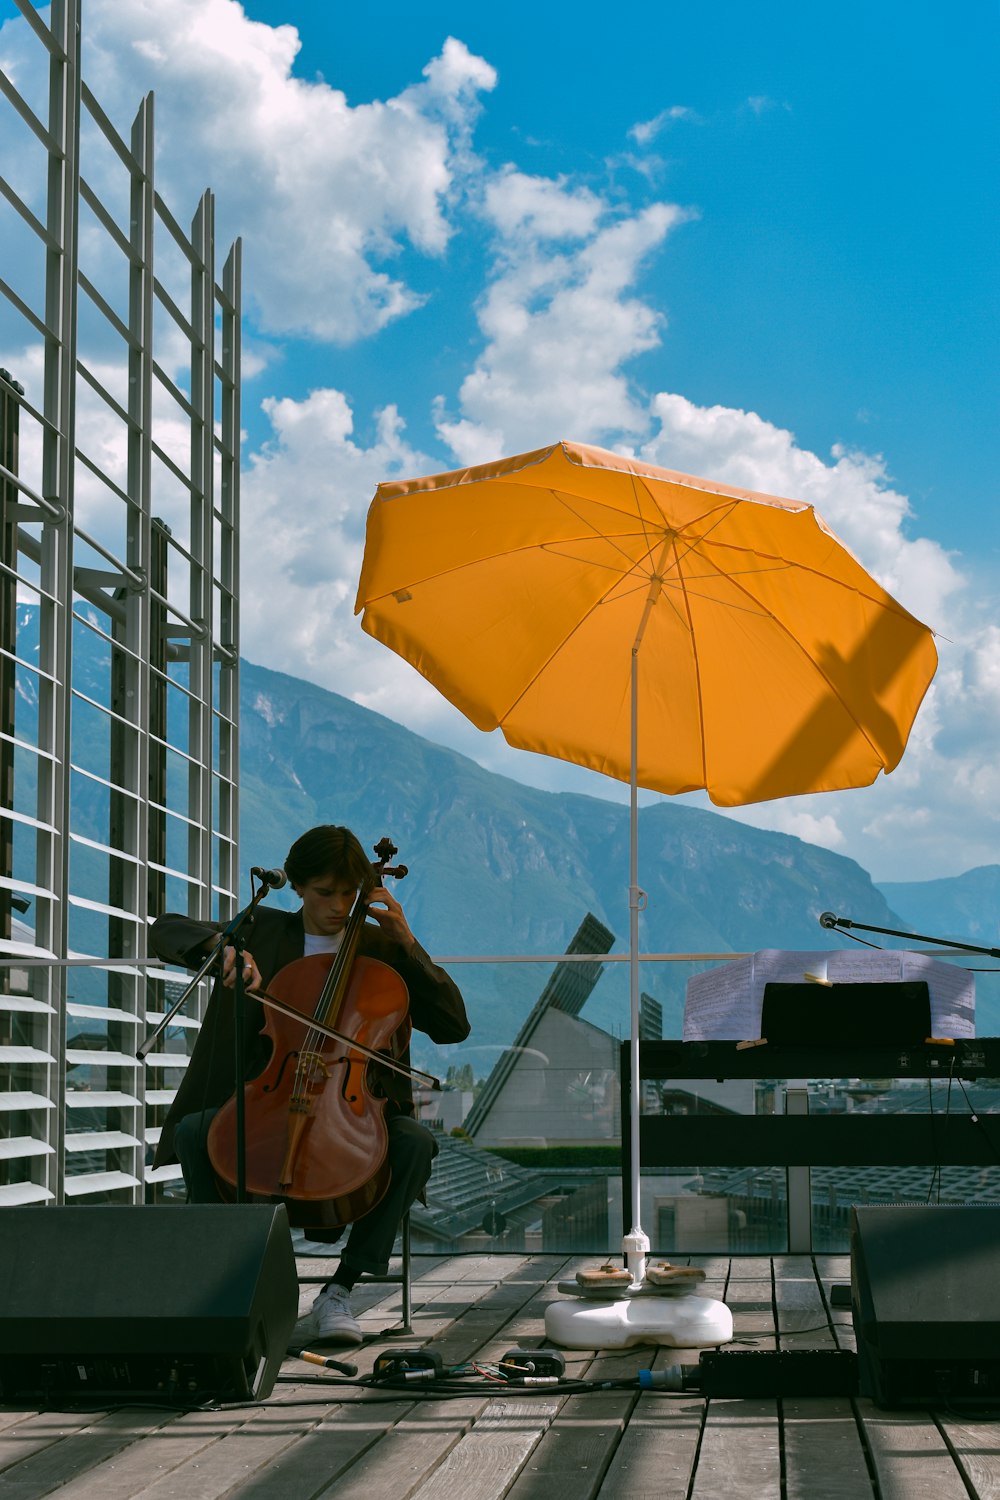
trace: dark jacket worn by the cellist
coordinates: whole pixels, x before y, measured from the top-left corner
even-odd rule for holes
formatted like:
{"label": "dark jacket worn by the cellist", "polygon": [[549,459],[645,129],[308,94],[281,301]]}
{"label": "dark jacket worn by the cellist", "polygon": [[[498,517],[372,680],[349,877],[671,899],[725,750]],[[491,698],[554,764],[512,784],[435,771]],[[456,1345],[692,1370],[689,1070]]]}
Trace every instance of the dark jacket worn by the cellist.
{"label": "dark jacket worn by the cellist", "polygon": [[[159,916],[150,928],[150,946],[165,963],[178,963],[198,969],[204,963],[204,945],[219,936],[219,926],[201,922],[192,916],[168,912]],[[246,946],[253,954],[264,984],[270,984],[279,969],[294,963],[304,954],[304,930],[301,912],[282,912],[273,908],[255,912],[253,926],[246,938]],[[427,957],[420,944],[412,952],[405,952],[399,944],[385,938],[375,922],[361,928],[358,952],[381,958],[396,969],[409,992],[409,1018],[417,1030],[432,1041],[465,1041],[469,1022],[465,1014],[462,992],[454,980]],[[265,1022],[265,1006],[252,994],[244,998],[244,1076],[255,1078],[270,1059],[271,1044],[261,1035]],[[409,1062],[409,1050],[400,1059]],[[379,1084],[396,1107],[412,1114],[409,1084],[397,1072],[385,1070]],[[174,1102],[171,1104],[154,1166],[177,1161],[174,1154],[174,1126],[184,1114],[225,1104],[235,1090],[235,1026],[232,1020],[232,990],[216,984],[205,1010],[205,1018],[195,1042],[195,1052],[184,1071]]]}

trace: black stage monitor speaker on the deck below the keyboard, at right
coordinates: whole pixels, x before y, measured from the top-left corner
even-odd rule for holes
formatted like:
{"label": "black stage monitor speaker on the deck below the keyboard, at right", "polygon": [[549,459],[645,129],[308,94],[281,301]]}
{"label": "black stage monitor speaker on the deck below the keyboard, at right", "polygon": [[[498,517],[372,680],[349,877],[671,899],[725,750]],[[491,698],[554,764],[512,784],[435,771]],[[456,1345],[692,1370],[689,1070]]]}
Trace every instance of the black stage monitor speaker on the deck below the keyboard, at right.
{"label": "black stage monitor speaker on the deck below the keyboard, at right", "polygon": [[877,1406],[1000,1406],[1000,1204],[852,1209],[861,1394]]}

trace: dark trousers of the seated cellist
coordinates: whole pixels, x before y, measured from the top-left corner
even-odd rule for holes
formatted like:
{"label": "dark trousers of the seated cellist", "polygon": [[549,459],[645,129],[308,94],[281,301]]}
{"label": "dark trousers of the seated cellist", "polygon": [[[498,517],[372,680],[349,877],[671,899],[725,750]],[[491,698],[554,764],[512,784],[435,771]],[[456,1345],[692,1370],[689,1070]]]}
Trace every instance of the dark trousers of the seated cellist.
{"label": "dark trousers of the seated cellist", "polygon": [[[208,1161],[208,1126],[217,1110],[184,1114],[174,1131],[174,1150],[184,1174],[189,1203],[219,1203],[222,1194]],[[393,1114],[388,1125],[391,1180],[381,1203],[351,1226],[340,1260],[351,1270],[382,1276],[403,1215],[427,1185],[438,1143],[409,1114]]]}

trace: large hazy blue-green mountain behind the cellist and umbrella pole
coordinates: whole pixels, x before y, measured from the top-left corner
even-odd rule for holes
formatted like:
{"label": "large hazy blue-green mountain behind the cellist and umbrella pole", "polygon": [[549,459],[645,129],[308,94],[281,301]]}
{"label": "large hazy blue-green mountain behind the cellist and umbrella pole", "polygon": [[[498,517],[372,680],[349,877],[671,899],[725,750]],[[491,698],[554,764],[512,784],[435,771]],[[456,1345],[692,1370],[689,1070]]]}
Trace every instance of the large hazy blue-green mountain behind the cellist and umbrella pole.
{"label": "large hazy blue-green mountain behind the cellist and umbrella pole", "polygon": [[[412,874],[397,894],[432,952],[561,952],[586,912],[615,932],[618,952],[627,950],[627,807],[522,786],[336,693],[246,662],[241,674],[246,864],[280,864],[298,831],[342,822],[366,844],[385,832],[399,844]],[[828,909],[907,926],[853,860],[670,801],[639,814],[639,879],[648,892],[646,952],[840,946],[850,939],[819,926]],[[664,1008],[666,1035],[681,1032],[691,972],[691,964],[643,970],[643,988]],[[511,1040],[547,969],[477,966],[456,975],[474,1041],[495,1050]],[[624,964],[609,966],[585,1016],[627,1030]]]}

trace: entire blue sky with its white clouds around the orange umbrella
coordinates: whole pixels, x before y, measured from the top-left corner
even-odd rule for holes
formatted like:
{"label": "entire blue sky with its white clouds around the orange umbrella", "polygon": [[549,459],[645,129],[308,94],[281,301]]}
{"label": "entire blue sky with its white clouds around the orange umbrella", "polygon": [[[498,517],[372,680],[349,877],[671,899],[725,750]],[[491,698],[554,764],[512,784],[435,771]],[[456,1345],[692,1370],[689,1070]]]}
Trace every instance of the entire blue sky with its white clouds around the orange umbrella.
{"label": "entire blue sky with its white clouds around the orange umbrella", "polygon": [[378,480],[639,452],[810,500],[942,634],[892,777],[739,816],[882,879],[996,862],[999,33],[987,0],[84,0],[111,117],[156,92],[166,201],[211,186],[244,240],[244,654],[619,795],[477,735],[351,604]]}

